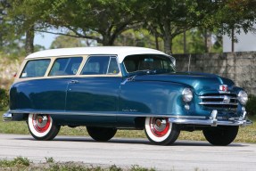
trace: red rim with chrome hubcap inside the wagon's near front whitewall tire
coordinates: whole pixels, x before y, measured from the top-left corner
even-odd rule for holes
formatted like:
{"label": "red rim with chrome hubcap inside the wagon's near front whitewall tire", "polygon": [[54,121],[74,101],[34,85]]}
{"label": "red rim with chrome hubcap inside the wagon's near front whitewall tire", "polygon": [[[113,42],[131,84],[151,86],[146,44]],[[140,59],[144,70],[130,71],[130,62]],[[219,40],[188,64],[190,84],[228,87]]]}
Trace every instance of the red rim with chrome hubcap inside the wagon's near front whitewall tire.
{"label": "red rim with chrome hubcap inside the wagon's near front whitewall tire", "polygon": [[155,136],[164,136],[169,131],[168,118],[150,118],[150,129]]}

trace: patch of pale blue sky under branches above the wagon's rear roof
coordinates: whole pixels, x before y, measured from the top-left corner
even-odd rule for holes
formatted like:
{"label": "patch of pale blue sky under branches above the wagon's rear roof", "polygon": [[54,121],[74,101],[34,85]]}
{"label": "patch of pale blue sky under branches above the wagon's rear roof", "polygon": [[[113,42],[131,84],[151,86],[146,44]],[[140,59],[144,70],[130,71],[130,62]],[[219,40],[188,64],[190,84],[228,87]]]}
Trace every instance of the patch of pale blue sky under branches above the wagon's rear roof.
{"label": "patch of pale blue sky under branches above the wagon's rear roof", "polygon": [[37,33],[34,39],[34,45],[43,45],[45,49],[49,49],[55,37],[58,36],[49,33]]}

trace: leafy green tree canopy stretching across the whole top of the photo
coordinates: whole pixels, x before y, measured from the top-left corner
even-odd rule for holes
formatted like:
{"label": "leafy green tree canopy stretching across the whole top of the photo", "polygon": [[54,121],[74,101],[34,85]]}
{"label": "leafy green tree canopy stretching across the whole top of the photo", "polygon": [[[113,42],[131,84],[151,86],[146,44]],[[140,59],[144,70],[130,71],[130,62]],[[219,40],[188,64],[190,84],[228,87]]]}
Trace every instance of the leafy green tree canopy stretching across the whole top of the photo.
{"label": "leafy green tree canopy stretching across the whole top of the photo", "polygon": [[[177,41],[174,38],[182,37],[182,34],[185,32],[187,34],[188,30],[191,37],[195,36],[194,28],[202,28],[214,33],[218,30],[229,35],[234,29],[238,33],[241,30],[247,32],[252,30],[256,16],[254,0],[9,0],[9,2],[8,15],[4,17],[1,33],[4,33],[6,45],[9,44],[10,48],[17,49],[18,52],[22,52],[21,49],[25,45],[26,53],[33,51],[31,42],[34,32],[53,32],[51,28],[57,28],[58,32],[54,34],[87,38],[89,42],[95,40],[96,43],[93,45],[134,44],[154,47],[152,43],[155,43],[156,48],[161,49],[163,43],[164,51],[170,53],[177,51],[176,46],[172,45]],[[139,38],[135,43],[132,38],[135,37],[137,40],[138,33],[145,32],[141,29],[143,24],[154,41],[150,41],[152,37],[145,36],[145,40]],[[130,38],[124,43],[122,37],[123,40]],[[198,37],[201,39],[198,40]],[[202,44],[203,39],[206,37],[202,37],[201,34],[193,39],[198,44],[195,49],[202,49],[202,46],[205,48],[206,41]],[[85,43],[78,40],[74,45],[81,42]],[[186,44],[183,42],[183,45]],[[219,48],[220,45],[216,44],[214,47]],[[60,46],[66,45],[59,44],[52,47]],[[188,48],[190,48],[189,43]],[[190,52],[198,51],[190,50]]]}

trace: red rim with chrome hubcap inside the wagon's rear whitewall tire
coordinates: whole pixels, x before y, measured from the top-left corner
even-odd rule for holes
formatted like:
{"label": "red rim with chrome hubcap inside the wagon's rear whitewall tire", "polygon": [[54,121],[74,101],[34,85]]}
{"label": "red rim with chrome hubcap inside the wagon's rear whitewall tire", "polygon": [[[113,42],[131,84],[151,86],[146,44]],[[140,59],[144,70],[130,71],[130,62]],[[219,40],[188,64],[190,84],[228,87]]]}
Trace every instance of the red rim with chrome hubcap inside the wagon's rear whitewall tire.
{"label": "red rim with chrome hubcap inside the wagon's rear whitewall tire", "polygon": [[32,124],[38,133],[44,133],[51,124],[51,117],[49,115],[33,115]]}

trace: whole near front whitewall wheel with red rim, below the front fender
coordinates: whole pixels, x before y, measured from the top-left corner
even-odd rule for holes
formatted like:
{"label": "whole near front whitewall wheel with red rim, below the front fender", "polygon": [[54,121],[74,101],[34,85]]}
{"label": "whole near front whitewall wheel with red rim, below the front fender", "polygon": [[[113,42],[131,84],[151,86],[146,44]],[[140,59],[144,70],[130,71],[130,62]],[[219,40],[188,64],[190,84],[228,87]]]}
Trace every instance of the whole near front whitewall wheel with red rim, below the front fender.
{"label": "whole near front whitewall wheel with red rim, below the front fender", "polygon": [[172,144],[177,140],[179,133],[178,125],[170,123],[169,118],[145,118],[145,134],[154,144]]}

